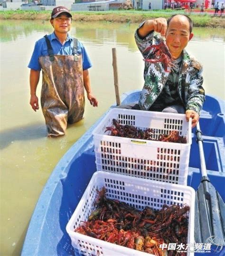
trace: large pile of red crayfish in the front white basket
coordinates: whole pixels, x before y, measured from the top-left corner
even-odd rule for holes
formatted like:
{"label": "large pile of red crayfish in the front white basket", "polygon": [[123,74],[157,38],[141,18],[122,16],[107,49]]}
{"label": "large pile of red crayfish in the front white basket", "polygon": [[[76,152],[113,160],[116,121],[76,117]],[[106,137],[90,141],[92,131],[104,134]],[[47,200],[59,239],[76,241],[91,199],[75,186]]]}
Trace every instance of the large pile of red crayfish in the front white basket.
{"label": "large pile of red crayfish in the front white basket", "polygon": [[106,197],[97,189],[95,210],[75,232],[157,256],[184,256],[186,253],[161,249],[159,245],[187,244],[188,205],[163,205],[160,210],[146,206],[142,211]]}

